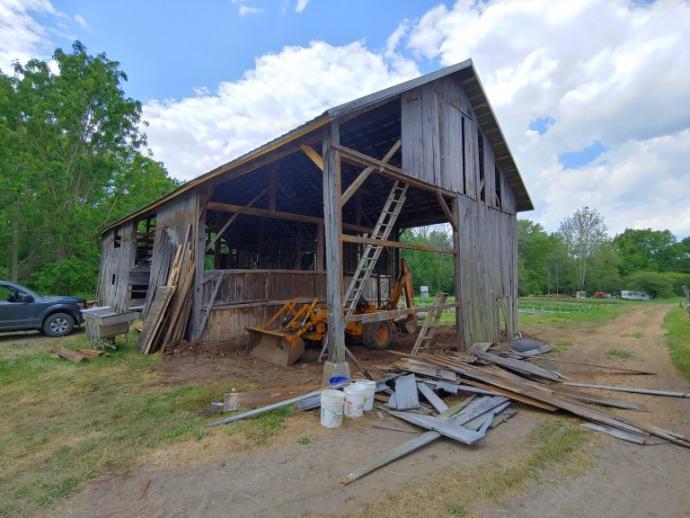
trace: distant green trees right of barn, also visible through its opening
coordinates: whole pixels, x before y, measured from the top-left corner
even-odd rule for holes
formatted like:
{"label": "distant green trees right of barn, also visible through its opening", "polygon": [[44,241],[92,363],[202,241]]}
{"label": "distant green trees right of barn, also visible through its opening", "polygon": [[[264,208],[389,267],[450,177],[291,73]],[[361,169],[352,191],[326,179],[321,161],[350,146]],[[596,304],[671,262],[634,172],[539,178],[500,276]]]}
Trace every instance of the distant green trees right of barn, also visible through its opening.
{"label": "distant green trees right of barn, also visible through its opening", "polygon": [[[402,240],[450,247],[444,226],[406,230]],[[690,285],[690,237],[669,230],[626,229],[610,237],[601,214],[589,207],[565,218],[556,232],[529,219],[517,221],[518,292],[525,295],[640,290],[653,297],[683,294]],[[453,260],[404,250],[415,285],[453,293]]]}

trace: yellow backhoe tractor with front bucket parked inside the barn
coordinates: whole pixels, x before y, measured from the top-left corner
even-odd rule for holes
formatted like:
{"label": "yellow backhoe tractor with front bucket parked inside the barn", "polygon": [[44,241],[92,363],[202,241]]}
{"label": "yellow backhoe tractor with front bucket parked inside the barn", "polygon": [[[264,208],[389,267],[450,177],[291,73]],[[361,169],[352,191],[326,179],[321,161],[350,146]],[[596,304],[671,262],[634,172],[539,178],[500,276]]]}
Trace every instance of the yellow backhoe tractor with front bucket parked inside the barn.
{"label": "yellow backhoe tractor with front bucket parked inside the barn", "polygon": [[[357,304],[355,314],[375,313],[397,309],[401,297],[405,296],[407,308],[414,308],[412,271],[404,259],[400,261],[400,277],[391,291],[388,304],[378,307],[363,297]],[[292,365],[304,353],[304,341],[323,342],[328,331],[328,310],[315,298],[300,305],[297,299],[286,302],[265,324],[248,327],[251,354],[279,365]],[[417,317],[407,314],[396,320],[378,322],[347,322],[345,334],[349,342],[361,343],[372,349],[386,349],[393,336],[393,326],[404,333],[414,333]]]}

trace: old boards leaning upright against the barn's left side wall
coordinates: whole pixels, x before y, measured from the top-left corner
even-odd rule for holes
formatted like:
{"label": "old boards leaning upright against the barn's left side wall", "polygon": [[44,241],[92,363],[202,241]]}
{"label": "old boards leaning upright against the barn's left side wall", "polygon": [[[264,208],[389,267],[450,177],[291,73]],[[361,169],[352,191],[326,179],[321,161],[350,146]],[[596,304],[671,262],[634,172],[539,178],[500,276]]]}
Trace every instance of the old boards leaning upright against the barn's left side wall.
{"label": "old boards leaning upright against the barn's left side wall", "polygon": [[139,337],[139,349],[144,354],[165,350],[184,338],[192,310],[196,273],[191,233],[190,225],[184,241],[177,247],[167,283],[156,288]]}

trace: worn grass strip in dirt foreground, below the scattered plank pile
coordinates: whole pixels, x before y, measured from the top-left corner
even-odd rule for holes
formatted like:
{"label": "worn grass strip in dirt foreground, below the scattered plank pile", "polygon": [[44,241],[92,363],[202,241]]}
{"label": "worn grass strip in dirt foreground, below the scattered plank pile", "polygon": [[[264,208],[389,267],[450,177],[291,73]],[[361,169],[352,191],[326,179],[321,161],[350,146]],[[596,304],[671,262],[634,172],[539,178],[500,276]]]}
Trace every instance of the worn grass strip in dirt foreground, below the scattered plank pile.
{"label": "worn grass strip in dirt foreground, below the scattered plank pile", "polygon": [[576,419],[549,417],[499,461],[460,464],[433,472],[365,506],[359,516],[468,516],[482,501],[500,502],[530,481],[575,476],[591,462],[584,445],[591,438]]}

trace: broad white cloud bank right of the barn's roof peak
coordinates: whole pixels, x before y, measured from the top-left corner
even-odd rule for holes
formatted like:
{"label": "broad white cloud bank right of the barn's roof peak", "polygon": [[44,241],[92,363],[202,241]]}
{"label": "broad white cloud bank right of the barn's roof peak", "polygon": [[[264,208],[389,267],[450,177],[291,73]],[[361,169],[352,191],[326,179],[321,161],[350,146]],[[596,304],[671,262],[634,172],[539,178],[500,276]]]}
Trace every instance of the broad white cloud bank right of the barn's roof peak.
{"label": "broad white cloud bank right of the barn's roof peak", "polygon": [[[471,57],[547,228],[588,204],[612,231],[690,234],[690,5],[610,0],[461,0],[428,11],[408,48],[448,65]],[[536,117],[556,123],[544,135]],[[595,140],[577,170],[557,157]]]}

